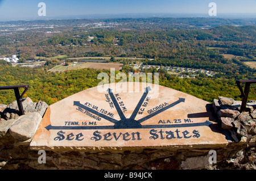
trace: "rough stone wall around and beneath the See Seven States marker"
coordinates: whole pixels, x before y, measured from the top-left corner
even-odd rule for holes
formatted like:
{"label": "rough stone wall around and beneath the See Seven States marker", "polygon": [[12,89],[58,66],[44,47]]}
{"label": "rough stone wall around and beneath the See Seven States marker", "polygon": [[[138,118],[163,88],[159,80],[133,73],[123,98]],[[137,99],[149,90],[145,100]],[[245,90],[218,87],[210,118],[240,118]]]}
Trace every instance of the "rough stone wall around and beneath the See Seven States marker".
{"label": "rough stone wall around and beneath the See Seven States marker", "polygon": [[[26,115],[18,116],[15,102],[1,105],[0,168],[1,169],[256,169],[256,102],[247,104],[240,113],[241,102],[219,97],[213,101],[213,111],[225,130],[229,144],[218,148],[143,149],[113,152],[46,151],[30,149],[30,141],[42,120],[46,103],[23,102]],[[213,152],[210,152],[213,150]],[[214,161],[216,151],[217,163]]]}

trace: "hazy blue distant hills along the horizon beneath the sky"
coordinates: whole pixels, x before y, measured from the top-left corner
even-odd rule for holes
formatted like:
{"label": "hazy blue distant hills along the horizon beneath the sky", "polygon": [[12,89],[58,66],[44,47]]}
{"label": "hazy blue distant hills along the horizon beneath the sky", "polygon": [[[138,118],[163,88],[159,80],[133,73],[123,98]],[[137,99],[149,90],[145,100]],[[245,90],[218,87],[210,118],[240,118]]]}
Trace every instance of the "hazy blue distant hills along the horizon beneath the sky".
{"label": "hazy blue distant hills along the horizon beneath the sky", "polygon": [[[11,26],[65,26],[65,27],[81,27],[92,23],[105,23],[106,27],[123,27],[123,28],[210,28],[216,26],[256,26],[256,17],[251,19],[234,19],[234,18],[110,18],[109,16],[95,16],[96,18],[84,19],[43,19],[43,20],[18,20],[9,22],[0,22],[0,30],[2,28],[10,28]],[[101,17],[101,18],[100,18]],[[109,18],[108,18],[109,17]],[[134,15],[135,17],[135,15]],[[146,15],[145,15],[146,17]]]}

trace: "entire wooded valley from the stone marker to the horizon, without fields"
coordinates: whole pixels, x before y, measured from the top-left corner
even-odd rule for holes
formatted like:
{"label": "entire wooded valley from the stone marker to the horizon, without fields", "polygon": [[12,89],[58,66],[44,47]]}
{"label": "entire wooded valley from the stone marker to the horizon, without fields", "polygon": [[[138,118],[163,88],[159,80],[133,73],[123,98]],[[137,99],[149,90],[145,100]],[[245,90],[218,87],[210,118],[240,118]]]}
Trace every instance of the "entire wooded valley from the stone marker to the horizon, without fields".
{"label": "entire wooded valley from the stone marker to the horizon, without fields", "polygon": [[[101,71],[110,74],[109,70],[95,69],[62,73],[47,71],[63,60],[72,62],[70,58],[74,57],[113,57],[110,61],[116,61],[114,57],[139,57],[143,58],[144,65],[207,69],[217,73],[214,77],[199,74],[196,78],[181,79],[164,69],[141,70],[158,71],[160,85],[209,102],[217,96],[235,98],[240,95],[236,80],[256,77],[256,70],[245,64],[245,61],[256,61],[256,27],[248,25],[254,25],[253,22],[255,20],[208,18],[9,22],[8,31],[0,33],[0,57],[17,54],[20,62],[46,60],[46,64],[43,68],[12,67],[2,60],[0,86],[28,84],[30,88],[25,96],[52,104],[97,86],[100,82],[97,75]],[[218,26],[220,24],[225,26]],[[15,30],[16,26],[27,26],[27,29]],[[120,62],[125,64],[122,71],[126,74],[135,71],[129,66],[131,61]],[[249,98],[256,98],[255,85],[251,86]],[[14,99],[11,90],[0,92],[0,103],[8,104]]]}

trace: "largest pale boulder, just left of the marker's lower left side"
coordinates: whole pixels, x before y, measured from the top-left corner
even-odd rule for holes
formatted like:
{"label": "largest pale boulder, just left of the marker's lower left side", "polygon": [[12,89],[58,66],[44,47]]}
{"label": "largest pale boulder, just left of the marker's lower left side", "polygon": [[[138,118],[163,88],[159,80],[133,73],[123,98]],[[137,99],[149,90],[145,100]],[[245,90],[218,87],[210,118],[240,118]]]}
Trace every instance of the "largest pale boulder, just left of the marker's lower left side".
{"label": "largest pale boulder, just left of the marker's lower left side", "polygon": [[9,132],[11,136],[18,141],[26,141],[34,136],[41,120],[42,116],[38,112],[20,116],[19,119],[11,125]]}

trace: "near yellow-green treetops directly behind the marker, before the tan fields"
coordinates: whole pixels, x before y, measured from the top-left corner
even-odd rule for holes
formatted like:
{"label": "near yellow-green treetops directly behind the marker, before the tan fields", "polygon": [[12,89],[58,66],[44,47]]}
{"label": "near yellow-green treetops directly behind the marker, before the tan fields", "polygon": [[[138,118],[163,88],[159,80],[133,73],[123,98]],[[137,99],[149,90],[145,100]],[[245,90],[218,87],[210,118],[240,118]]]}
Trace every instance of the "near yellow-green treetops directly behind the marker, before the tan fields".
{"label": "near yellow-green treetops directly behind the marker, before the tan fields", "polygon": [[[1,86],[28,84],[30,87],[24,97],[29,96],[34,102],[42,100],[47,104],[52,104],[76,92],[97,86],[101,81],[97,79],[97,76],[103,71],[110,76],[110,70],[79,69],[51,73],[43,69],[1,65],[0,84]],[[212,102],[218,96],[235,98],[235,96],[240,95],[235,78],[197,77],[181,79],[169,75],[163,69],[159,69],[158,73],[160,85],[186,92],[209,102]],[[240,100],[240,98],[236,99]],[[251,86],[249,99],[256,99],[255,86]],[[15,100],[13,90],[2,90],[0,92],[1,103],[9,104],[13,100]]]}

